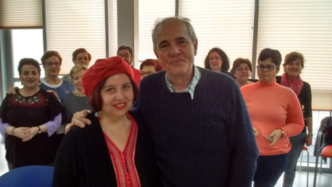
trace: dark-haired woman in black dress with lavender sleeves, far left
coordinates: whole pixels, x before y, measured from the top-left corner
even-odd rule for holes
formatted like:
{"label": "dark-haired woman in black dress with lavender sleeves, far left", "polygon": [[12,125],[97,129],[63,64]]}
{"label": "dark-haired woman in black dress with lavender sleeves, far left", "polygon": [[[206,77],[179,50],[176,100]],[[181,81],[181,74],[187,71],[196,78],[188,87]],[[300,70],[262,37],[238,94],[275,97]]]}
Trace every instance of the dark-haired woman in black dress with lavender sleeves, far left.
{"label": "dark-haired woman in black dress with lavender sleeves, far left", "polygon": [[7,94],[0,107],[0,132],[5,137],[9,170],[30,165],[53,166],[61,124],[61,105],[53,94],[39,89],[37,60],[19,62],[23,88]]}

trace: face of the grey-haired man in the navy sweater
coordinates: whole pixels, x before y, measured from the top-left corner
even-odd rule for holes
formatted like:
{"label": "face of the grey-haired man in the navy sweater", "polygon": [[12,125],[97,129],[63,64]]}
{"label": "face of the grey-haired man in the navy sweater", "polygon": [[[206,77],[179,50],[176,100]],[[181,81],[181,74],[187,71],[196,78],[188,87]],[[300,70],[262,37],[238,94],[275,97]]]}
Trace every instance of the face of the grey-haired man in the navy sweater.
{"label": "face of the grey-haired man in the navy sweater", "polygon": [[168,76],[188,76],[192,73],[197,40],[193,44],[183,21],[168,19],[156,29],[154,53]]}

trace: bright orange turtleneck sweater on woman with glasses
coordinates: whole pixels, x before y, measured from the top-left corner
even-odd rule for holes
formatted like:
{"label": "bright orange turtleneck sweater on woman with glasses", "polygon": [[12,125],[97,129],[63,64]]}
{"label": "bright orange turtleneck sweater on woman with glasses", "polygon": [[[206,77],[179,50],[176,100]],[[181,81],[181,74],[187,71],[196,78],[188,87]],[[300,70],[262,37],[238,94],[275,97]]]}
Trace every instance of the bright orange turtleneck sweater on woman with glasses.
{"label": "bright orange turtleneck sweater on woman with glasses", "polygon": [[[291,150],[288,137],[302,132],[304,121],[299,100],[293,90],[276,82],[256,82],[241,87],[252,125],[259,132],[256,142],[259,155],[285,154]],[[282,128],[284,137],[269,146],[264,135]]]}

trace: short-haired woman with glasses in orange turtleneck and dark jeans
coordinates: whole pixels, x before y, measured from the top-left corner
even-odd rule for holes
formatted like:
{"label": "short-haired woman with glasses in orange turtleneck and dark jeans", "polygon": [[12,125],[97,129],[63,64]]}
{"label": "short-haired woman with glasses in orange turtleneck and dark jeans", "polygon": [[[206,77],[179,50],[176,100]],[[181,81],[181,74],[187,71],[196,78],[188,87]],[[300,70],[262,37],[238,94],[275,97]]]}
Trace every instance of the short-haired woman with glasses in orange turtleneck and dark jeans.
{"label": "short-haired woman with glasses in orange turtleneck and dark jeans", "polygon": [[275,186],[287,166],[290,136],[304,127],[302,109],[293,90],[277,84],[282,55],[265,48],[259,53],[259,81],[241,87],[259,148],[254,186]]}

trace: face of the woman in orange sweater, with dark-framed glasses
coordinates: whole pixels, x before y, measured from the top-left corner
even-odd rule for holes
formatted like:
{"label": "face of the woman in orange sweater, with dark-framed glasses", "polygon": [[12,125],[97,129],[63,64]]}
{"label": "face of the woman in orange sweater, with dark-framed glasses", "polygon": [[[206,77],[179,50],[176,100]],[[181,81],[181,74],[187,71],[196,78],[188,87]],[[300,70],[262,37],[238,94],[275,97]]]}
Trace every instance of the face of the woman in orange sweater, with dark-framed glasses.
{"label": "face of the woman in orange sweater, with dark-framed glasses", "polygon": [[[259,61],[258,65],[259,66],[275,66],[275,64],[273,63],[271,58],[268,58],[263,61]],[[269,84],[269,83],[275,81],[275,76],[277,75],[277,73],[279,73],[279,69],[280,69],[279,67],[273,68],[273,70],[271,70],[271,71],[268,71],[266,68],[264,68],[263,70],[257,69],[257,75],[258,75],[259,81],[266,83],[266,84]]]}

